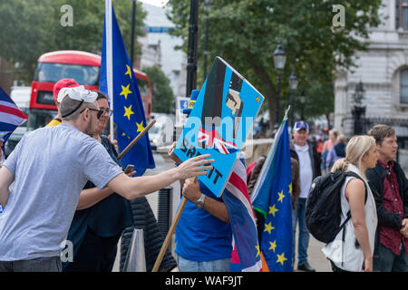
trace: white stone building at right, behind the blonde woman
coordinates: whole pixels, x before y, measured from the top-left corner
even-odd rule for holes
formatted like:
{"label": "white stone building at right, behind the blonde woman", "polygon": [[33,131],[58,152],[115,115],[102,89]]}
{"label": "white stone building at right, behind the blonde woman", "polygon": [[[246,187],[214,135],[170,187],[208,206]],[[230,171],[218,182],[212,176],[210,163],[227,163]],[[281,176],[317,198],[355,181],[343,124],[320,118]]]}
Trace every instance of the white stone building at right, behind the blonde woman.
{"label": "white stone building at right, behind the blonde woman", "polygon": [[[355,55],[357,68],[353,72],[337,73],[334,124],[335,130],[349,137],[353,135],[352,96],[357,82],[361,81],[365,90],[362,102],[365,117],[390,121],[403,153],[403,149],[408,148],[405,146],[408,140],[408,0],[383,0],[383,5],[380,10],[383,24],[370,29],[368,51]],[[405,159],[401,154],[400,157]]]}

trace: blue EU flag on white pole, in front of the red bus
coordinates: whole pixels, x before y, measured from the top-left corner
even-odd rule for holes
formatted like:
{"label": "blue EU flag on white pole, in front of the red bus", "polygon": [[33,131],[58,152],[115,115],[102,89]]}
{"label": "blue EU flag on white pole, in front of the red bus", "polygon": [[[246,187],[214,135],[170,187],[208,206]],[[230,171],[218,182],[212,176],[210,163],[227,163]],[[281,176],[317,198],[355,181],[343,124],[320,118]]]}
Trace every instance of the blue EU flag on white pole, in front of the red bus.
{"label": "blue EU flag on white pole, in front of the red bus", "polygon": [[[99,88],[108,94],[108,70],[112,72],[113,87],[113,120],[116,123],[116,135],[119,151],[124,150],[131,141],[146,127],[146,119],[141,102],[138,82],[134,75],[131,61],[126,52],[121,30],[116,21],[112,7],[112,68],[107,67],[107,21],[105,17],[103,27],[101,76]],[[154,160],[151,153],[149,135],[146,133],[126,154],[121,158],[121,165],[135,166],[136,175],[141,176],[146,169],[154,169]]]}

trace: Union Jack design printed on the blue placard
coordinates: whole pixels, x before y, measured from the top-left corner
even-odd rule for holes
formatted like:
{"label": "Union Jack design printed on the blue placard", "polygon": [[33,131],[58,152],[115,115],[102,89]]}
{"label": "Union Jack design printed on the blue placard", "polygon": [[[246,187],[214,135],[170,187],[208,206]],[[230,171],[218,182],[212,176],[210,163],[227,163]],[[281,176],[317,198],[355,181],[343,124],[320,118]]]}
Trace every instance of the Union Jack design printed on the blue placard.
{"label": "Union Jack design printed on the blue placard", "polygon": [[230,154],[238,151],[238,147],[234,142],[223,140],[217,129],[207,131],[203,127],[199,128],[199,146],[203,148],[212,148],[218,150],[222,154]]}

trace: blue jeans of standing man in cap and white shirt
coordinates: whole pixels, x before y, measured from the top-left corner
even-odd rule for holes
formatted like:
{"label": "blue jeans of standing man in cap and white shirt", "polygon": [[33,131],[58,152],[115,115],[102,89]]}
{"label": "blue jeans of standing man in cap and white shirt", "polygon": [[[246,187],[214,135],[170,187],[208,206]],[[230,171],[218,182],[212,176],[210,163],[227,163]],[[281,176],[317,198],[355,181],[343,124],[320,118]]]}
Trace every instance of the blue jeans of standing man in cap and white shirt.
{"label": "blue jeans of standing man in cap and white shirt", "polygon": [[305,220],[306,198],[298,198],[296,209],[292,211],[292,228],[293,228],[293,262],[295,262],[295,241],[296,241],[296,224],[299,221],[299,240],[297,250],[297,265],[307,262],[307,247],[309,246],[309,231],[306,227]]}

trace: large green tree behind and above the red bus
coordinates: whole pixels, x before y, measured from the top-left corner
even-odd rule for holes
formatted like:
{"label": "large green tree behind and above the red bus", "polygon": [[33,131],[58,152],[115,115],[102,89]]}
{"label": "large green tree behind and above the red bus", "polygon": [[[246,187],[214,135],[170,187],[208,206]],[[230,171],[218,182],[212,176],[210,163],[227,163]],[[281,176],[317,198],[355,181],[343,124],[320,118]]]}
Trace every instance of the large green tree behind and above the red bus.
{"label": "large green tree behind and above the red bus", "polygon": [[[73,7],[73,26],[60,23],[63,5]],[[113,0],[112,5],[124,43],[131,47],[131,1]],[[136,34],[146,13],[138,3]],[[2,0],[0,1],[0,57],[18,63],[16,78],[30,82],[38,57],[56,50],[100,53],[104,1],[93,0]],[[135,52],[141,53],[137,45]]]}

